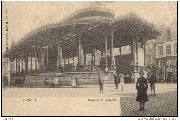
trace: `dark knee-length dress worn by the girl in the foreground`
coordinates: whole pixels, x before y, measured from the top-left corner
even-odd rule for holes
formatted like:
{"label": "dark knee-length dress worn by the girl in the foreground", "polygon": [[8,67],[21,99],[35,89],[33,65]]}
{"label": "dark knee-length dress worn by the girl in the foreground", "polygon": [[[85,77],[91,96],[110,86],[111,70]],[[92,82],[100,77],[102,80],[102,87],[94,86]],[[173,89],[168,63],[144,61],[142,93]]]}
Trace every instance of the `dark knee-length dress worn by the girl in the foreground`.
{"label": "dark knee-length dress worn by the girl in the foreground", "polygon": [[139,101],[139,102],[148,101],[148,96],[147,96],[148,83],[147,83],[146,78],[140,77],[137,79],[136,89],[137,89],[136,101]]}

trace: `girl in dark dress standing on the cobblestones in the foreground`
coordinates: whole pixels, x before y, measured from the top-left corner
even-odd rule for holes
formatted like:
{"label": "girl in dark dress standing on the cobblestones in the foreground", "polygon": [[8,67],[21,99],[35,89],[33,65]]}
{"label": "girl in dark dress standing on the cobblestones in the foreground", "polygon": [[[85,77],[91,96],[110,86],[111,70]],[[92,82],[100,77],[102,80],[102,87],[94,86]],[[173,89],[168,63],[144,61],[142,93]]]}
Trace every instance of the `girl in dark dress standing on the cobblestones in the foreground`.
{"label": "girl in dark dress standing on the cobblestones in the foreground", "polygon": [[148,101],[147,96],[147,89],[148,89],[148,83],[147,79],[143,77],[144,72],[141,70],[139,72],[140,77],[137,79],[136,82],[136,89],[137,89],[137,97],[136,101],[140,103],[140,111],[144,111],[144,104]]}

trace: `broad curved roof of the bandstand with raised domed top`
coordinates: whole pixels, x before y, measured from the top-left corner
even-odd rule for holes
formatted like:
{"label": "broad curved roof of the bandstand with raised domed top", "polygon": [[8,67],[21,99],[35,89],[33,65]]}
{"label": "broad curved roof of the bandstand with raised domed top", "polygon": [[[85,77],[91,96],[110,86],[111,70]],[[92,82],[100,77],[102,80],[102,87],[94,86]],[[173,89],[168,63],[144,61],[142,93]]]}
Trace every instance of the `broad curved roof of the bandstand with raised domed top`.
{"label": "broad curved roof of the bandstand with raised domed top", "polygon": [[104,36],[107,34],[105,31],[110,28],[114,30],[114,47],[130,45],[133,39],[144,43],[160,35],[158,29],[135,14],[114,18],[113,12],[109,10],[84,9],[59,23],[31,31],[4,53],[4,57],[14,58],[15,55],[21,55],[20,53],[30,54],[30,50],[40,50],[47,45],[56,51],[58,41],[62,44],[63,57],[72,57],[78,55],[79,37],[85,52],[91,52],[92,48],[104,50]]}

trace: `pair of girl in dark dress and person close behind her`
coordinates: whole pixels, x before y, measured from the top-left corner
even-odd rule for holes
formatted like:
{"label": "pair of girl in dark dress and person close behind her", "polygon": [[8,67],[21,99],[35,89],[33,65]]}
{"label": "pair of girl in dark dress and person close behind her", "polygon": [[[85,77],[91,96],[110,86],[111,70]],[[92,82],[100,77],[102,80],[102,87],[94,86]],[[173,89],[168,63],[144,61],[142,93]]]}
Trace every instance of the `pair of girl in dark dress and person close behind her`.
{"label": "pair of girl in dark dress and person close behind her", "polygon": [[155,82],[156,82],[156,76],[152,72],[147,73],[147,79],[143,76],[144,72],[141,70],[139,72],[140,77],[137,78],[136,82],[136,89],[137,89],[137,97],[136,101],[140,103],[140,109],[139,111],[144,111],[144,104],[145,102],[149,101],[148,100],[148,95],[147,95],[147,89],[148,89],[148,82],[150,83],[150,88],[151,88],[151,95],[152,91],[154,91],[154,96],[155,94]]}

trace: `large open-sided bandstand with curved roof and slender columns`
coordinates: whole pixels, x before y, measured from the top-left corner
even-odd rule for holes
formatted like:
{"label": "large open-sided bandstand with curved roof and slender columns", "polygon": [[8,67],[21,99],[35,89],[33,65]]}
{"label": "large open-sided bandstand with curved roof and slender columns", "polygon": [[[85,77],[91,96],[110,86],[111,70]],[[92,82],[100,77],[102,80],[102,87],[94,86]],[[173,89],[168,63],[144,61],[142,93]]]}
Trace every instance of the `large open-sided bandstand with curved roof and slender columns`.
{"label": "large open-sided bandstand with curved roof and slender columns", "polygon": [[69,75],[78,76],[82,83],[90,79],[87,83],[93,84],[99,70],[108,68],[112,72],[120,68],[113,50],[122,46],[130,45],[131,67],[127,69],[132,75],[137,73],[139,45],[144,47],[147,40],[159,35],[158,29],[134,13],[115,17],[109,10],[88,8],[59,23],[33,30],[5,52],[4,57],[14,65],[12,82],[22,74],[26,76],[25,82],[54,74],[64,80]]}

